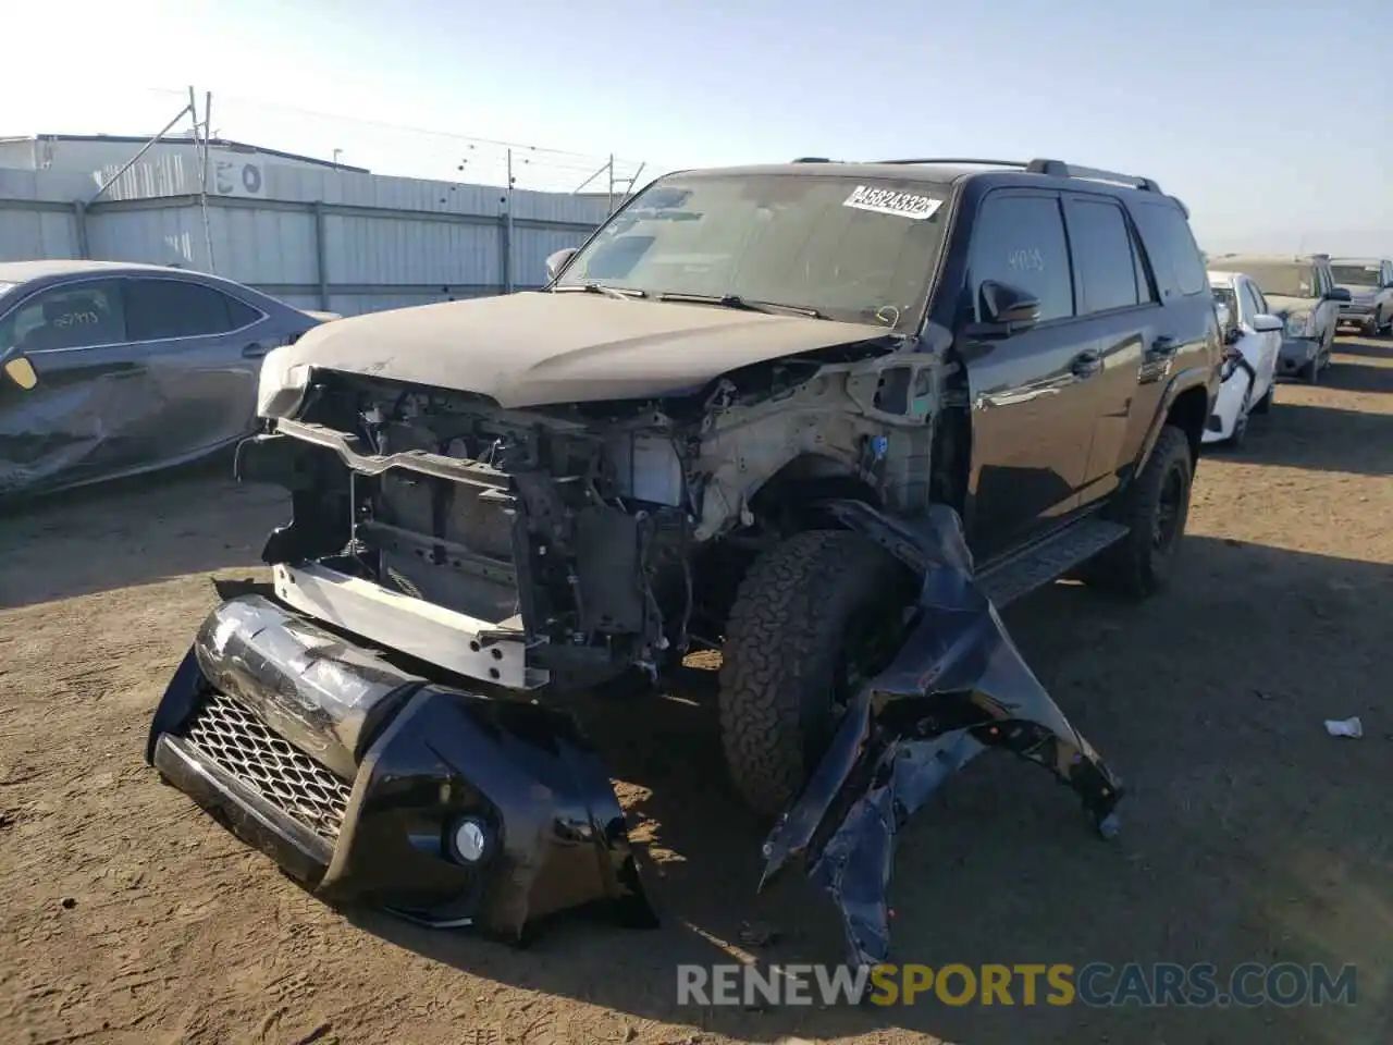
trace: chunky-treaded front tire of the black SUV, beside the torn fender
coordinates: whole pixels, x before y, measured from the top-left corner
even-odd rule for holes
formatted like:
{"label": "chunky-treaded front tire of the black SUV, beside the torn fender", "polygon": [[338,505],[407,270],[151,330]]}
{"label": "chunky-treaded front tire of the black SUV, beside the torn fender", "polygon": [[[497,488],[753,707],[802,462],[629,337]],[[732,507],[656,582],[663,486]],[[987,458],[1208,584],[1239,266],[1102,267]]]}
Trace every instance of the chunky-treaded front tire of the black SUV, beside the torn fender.
{"label": "chunky-treaded front tire of the black SUV, beside the torn fender", "polygon": [[841,529],[795,534],[751,564],[726,626],[719,706],[730,779],[756,814],[798,797],[836,729],[851,626],[875,614],[893,627],[908,581],[889,552]]}

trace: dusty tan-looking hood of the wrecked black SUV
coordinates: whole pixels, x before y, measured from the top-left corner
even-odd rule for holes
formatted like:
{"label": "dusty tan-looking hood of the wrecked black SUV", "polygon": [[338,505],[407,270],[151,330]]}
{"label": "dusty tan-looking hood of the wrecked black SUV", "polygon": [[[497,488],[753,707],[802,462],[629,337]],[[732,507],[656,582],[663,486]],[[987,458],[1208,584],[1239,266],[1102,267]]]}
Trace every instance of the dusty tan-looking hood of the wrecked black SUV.
{"label": "dusty tan-looking hood of the wrecked black SUV", "polygon": [[887,337],[898,336],[871,323],[528,291],[325,323],[277,348],[274,365],[536,407],[688,392],[751,364]]}

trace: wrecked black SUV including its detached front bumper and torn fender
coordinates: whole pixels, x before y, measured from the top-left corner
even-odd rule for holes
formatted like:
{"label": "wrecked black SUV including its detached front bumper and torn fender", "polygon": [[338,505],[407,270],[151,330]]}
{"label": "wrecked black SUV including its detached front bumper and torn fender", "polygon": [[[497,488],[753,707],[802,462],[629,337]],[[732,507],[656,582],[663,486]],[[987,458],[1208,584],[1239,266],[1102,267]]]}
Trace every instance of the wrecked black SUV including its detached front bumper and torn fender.
{"label": "wrecked black SUV including its detached front bumper and torn fender", "polygon": [[1107,833],[1116,777],[993,607],[1166,581],[1222,351],[1184,206],[1057,160],[800,160],[662,177],[547,268],[266,358],[237,468],[293,518],[170,684],[160,773],[326,897],[646,922],[564,694],[717,648],[768,872],[805,858],[858,960],[885,843],[979,750]]}

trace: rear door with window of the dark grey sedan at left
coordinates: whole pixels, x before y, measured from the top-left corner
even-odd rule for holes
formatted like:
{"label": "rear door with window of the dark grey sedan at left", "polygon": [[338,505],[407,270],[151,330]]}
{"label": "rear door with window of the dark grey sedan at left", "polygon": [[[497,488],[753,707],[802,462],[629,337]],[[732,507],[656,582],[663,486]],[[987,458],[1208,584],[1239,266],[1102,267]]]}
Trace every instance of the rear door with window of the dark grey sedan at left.
{"label": "rear door with window of the dark grey sedan at left", "polygon": [[141,432],[146,453],[194,457],[251,431],[260,358],[274,347],[260,309],[203,283],[138,277],[127,280],[125,323],[157,407]]}

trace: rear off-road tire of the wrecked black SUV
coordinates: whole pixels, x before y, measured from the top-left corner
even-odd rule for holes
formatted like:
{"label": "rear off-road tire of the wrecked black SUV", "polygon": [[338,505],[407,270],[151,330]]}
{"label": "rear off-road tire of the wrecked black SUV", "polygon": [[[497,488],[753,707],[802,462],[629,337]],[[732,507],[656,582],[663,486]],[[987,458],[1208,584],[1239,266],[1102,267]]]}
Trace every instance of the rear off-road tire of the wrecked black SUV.
{"label": "rear off-road tire of the wrecked black SUV", "polygon": [[[1173,475],[1180,483],[1178,518],[1165,546],[1158,548],[1156,518]],[[1144,599],[1166,587],[1190,516],[1192,478],[1190,439],[1174,425],[1166,425],[1141,475],[1109,513],[1128,527],[1128,534],[1088,564],[1084,575],[1089,585],[1133,599]]]}

